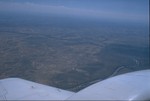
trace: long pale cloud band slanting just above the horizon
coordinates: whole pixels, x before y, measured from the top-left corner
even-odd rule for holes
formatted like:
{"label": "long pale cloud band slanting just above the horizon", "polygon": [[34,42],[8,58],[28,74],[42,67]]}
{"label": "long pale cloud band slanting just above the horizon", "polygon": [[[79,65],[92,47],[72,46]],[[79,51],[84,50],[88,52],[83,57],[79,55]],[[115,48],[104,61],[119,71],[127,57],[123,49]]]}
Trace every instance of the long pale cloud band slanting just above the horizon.
{"label": "long pale cloud band slanting just above the horizon", "polygon": [[17,12],[32,12],[44,14],[63,14],[71,16],[82,16],[91,18],[105,18],[117,20],[147,20],[148,17],[144,15],[137,15],[132,13],[115,12],[107,10],[90,10],[69,8],[65,6],[53,6],[46,4],[36,4],[31,2],[26,3],[13,3],[13,2],[0,2],[0,11],[17,11]]}

